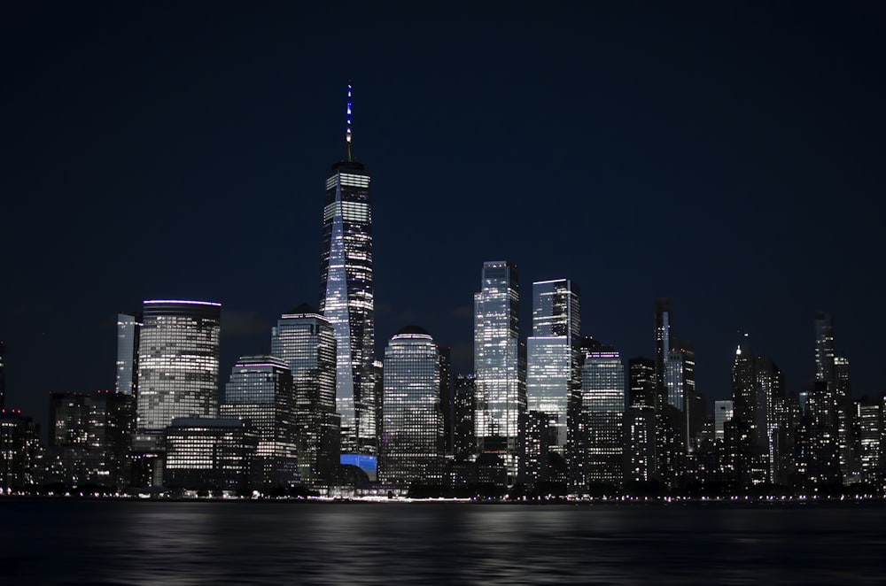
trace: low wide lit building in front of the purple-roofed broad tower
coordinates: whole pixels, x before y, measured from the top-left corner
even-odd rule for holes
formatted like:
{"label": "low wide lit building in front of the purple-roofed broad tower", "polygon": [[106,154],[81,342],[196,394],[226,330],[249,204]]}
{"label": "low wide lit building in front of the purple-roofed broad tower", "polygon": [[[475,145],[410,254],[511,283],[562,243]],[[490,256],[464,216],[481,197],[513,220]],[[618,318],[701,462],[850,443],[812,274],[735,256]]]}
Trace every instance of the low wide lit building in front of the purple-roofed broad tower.
{"label": "low wide lit building in front of the purple-roofed broad tower", "polygon": [[164,486],[240,493],[251,488],[259,436],[248,421],[175,418],[165,435]]}

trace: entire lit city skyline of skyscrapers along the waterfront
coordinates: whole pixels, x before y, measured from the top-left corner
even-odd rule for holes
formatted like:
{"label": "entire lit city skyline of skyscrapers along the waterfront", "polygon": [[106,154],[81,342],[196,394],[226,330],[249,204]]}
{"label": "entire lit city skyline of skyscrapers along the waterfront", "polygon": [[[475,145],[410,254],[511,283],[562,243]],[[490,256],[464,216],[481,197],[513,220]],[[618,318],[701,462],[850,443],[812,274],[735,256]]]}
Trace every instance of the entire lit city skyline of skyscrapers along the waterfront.
{"label": "entire lit city skyline of skyscrapers along the waterfront", "polygon": [[[831,318],[815,326],[815,380],[785,389],[772,359],[738,344],[732,400],[712,415],[695,349],[655,305],[655,354],[623,359],[580,329],[579,287],[532,283],[521,332],[517,267],[482,266],[474,370],[407,326],[375,351],[370,175],[347,158],[326,178],[321,294],[280,315],[270,353],[220,380],[221,305],[152,299],[118,314],[114,392],[51,395],[49,441],[0,415],[0,485],[330,494],[476,487],[882,492],[883,398],[853,400]],[[650,348],[652,340],[650,336]],[[4,402],[0,343],[0,407]]]}

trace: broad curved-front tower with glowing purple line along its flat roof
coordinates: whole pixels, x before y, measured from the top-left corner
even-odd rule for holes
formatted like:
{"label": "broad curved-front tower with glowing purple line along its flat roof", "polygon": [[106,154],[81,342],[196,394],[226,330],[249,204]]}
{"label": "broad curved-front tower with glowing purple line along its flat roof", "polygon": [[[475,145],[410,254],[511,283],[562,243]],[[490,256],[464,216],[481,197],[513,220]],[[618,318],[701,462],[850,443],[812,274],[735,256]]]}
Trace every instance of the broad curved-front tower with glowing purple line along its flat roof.
{"label": "broad curved-front tower with glowing purple line along its flat roof", "polygon": [[[218,414],[221,304],[152,299],[142,314],[133,449],[162,452],[173,419]],[[162,482],[158,459],[150,473],[156,484]]]}

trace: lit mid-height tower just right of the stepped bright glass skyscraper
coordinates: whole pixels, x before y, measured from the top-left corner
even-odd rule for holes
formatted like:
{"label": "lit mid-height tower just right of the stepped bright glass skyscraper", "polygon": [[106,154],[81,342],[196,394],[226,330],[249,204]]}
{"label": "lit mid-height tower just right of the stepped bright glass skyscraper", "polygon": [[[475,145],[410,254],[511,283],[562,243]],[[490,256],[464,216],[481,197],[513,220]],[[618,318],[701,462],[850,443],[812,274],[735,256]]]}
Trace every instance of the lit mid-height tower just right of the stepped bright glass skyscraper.
{"label": "lit mid-height tower just right of the stepped bright glass skyscraper", "polygon": [[588,351],[581,368],[579,486],[620,485],[625,477],[625,366],[614,348]]}

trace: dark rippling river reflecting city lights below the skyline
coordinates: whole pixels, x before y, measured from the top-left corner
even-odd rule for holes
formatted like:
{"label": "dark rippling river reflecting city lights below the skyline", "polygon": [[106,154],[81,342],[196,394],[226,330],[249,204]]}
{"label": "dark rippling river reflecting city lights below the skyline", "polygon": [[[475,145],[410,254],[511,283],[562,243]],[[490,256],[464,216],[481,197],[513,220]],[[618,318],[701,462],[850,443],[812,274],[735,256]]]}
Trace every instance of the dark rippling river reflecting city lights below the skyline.
{"label": "dark rippling river reflecting city lights below the skyline", "polygon": [[0,584],[882,584],[886,505],[0,500]]}

